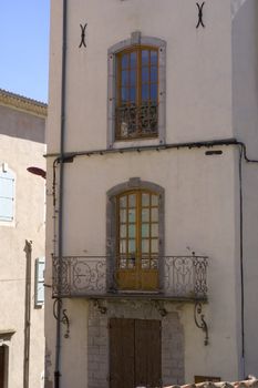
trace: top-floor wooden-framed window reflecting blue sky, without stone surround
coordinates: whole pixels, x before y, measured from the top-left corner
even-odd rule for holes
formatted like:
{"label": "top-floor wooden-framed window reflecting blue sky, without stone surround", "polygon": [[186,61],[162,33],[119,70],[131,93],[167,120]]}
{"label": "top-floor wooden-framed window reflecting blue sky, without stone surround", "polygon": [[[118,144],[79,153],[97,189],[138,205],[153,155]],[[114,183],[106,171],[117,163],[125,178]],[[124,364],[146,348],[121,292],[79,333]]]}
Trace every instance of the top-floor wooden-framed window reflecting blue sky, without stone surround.
{"label": "top-floor wooden-framed window reflecting blue sky, without stone surround", "polygon": [[134,47],[116,57],[115,139],[156,137],[158,50]]}

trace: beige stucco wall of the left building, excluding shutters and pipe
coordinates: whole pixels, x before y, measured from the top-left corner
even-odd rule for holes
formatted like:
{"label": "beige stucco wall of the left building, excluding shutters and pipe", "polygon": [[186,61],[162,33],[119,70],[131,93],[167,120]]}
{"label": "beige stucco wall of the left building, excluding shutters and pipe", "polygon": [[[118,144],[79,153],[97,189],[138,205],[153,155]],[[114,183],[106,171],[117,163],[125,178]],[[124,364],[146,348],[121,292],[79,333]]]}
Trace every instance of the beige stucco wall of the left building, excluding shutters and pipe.
{"label": "beige stucco wall of the left building, excluding shutters and pipe", "polygon": [[[9,133],[9,135],[8,135]],[[0,106],[0,164],[16,173],[14,222],[0,224],[0,330],[16,333],[9,346],[8,388],[23,384],[25,239],[32,241],[30,387],[42,387],[44,370],[44,308],[34,308],[34,262],[44,256],[44,180],[29,166],[45,170],[44,119]]]}

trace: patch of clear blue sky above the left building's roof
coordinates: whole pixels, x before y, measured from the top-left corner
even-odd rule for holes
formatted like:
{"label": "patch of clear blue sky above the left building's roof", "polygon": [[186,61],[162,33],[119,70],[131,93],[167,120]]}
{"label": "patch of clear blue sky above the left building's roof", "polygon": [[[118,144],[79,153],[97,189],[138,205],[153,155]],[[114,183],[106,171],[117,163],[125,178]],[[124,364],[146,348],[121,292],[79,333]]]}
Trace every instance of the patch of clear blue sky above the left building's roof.
{"label": "patch of clear blue sky above the left building's roof", "polygon": [[50,0],[0,0],[0,89],[48,102]]}

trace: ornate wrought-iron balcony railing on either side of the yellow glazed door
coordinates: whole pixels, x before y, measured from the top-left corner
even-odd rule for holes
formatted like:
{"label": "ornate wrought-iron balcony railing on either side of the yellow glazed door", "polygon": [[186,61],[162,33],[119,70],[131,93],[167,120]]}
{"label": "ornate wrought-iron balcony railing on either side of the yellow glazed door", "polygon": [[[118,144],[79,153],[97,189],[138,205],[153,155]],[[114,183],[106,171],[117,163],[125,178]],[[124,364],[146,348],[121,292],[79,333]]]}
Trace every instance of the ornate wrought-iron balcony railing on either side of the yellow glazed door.
{"label": "ornate wrought-iron balcony railing on either side of the yellow glazed door", "polygon": [[[159,257],[159,288],[138,295],[178,298],[207,299],[206,256]],[[110,267],[111,257],[68,256],[53,257],[53,296],[56,297],[104,297],[136,295],[137,290],[120,290],[116,270]]]}

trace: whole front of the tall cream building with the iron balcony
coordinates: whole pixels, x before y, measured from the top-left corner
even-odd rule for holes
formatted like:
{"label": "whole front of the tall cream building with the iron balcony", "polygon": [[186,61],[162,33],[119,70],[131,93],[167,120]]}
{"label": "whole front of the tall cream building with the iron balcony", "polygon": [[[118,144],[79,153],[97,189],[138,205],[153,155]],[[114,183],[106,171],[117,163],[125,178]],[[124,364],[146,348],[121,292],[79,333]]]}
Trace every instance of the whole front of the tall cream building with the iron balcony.
{"label": "whole front of the tall cream building with the iron balcony", "polygon": [[45,387],[256,375],[256,11],[52,1]]}

